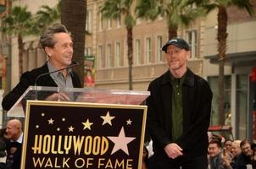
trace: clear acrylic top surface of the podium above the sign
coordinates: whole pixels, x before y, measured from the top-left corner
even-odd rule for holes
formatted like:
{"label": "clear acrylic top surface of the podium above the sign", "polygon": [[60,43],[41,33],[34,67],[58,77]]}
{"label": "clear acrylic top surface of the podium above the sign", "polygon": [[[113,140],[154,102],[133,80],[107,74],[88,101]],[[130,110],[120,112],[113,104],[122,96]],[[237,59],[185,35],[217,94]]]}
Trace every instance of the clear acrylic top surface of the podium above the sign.
{"label": "clear acrylic top surface of the podium above the sign", "polygon": [[[67,95],[69,101],[91,102],[103,104],[141,105],[150,95],[149,91],[140,90],[105,90],[95,88],[58,88],[45,86],[30,86],[19,97],[8,111],[8,117],[25,117],[25,105],[28,100],[48,101],[48,96]],[[53,101],[53,100],[51,100]],[[62,101],[59,96],[55,101]],[[64,100],[67,101],[67,100]]]}

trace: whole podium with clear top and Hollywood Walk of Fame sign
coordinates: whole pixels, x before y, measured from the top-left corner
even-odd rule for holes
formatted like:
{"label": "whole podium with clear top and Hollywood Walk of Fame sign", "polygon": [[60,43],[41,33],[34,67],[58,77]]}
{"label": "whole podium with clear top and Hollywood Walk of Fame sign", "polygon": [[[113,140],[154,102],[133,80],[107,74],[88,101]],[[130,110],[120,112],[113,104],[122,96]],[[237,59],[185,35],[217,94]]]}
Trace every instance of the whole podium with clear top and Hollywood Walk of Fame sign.
{"label": "whole podium with clear top and Hollywood Walk of Fame sign", "polygon": [[141,168],[148,95],[30,86],[8,111],[25,117],[21,168]]}

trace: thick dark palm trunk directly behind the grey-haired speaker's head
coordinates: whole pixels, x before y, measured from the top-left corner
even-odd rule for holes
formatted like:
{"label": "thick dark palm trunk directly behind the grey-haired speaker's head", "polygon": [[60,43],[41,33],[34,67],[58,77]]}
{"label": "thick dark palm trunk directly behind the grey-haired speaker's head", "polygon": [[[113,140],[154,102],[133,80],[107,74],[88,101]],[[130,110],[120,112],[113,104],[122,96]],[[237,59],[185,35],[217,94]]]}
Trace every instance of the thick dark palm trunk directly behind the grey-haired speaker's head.
{"label": "thick dark palm trunk directly behind the grey-haired speaker's head", "polygon": [[75,71],[83,82],[85,76],[86,0],[62,0],[60,7],[61,23],[71,32],[74,41],[74,59],[81,65],[76,67]]}

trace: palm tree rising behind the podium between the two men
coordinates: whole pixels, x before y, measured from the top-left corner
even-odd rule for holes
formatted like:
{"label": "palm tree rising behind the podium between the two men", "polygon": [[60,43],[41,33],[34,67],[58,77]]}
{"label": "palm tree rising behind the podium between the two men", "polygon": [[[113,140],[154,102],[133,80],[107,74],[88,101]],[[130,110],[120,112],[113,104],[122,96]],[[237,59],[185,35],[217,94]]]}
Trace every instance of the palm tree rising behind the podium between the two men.
{"label": "palm tree rising behind the podium between the two men", "polygon": [[129,90],[132,90],[132,29],[135,25],[135,19],[131,14],[132,0],[107,0],[103,4],[101,12],[106,19],[118,19],[125,17],[125,27],[127,30],[127,46],[128,46],[128,64],[129,64]]}

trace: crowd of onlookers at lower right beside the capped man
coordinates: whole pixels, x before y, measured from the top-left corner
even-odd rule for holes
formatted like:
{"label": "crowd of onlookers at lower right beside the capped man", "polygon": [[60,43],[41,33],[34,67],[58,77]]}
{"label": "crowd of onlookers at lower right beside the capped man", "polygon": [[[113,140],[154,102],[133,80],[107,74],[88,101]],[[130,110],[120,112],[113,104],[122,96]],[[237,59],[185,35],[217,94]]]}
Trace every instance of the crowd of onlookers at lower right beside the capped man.
{"label": "crowd of onlookers at lower right beside the capped man", "polygon": [[254,169],[256,168],[256,144],[248,139],[210,139],[209,169]]}

